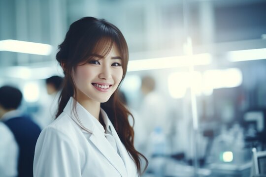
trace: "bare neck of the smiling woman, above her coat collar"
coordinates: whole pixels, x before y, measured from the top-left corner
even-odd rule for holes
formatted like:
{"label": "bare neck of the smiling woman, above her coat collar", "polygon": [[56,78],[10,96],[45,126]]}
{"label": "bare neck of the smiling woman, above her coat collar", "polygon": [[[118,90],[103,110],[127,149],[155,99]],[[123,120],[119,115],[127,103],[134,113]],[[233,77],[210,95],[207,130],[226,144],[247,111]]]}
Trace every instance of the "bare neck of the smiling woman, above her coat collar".
{"label": "bare neck of the smiling woman, above her coat collar", "polygon": [[77,95],[77,102],[81,104],[93,117],[99,120],[100,116],[100,102],[94,101],[87,96]]}

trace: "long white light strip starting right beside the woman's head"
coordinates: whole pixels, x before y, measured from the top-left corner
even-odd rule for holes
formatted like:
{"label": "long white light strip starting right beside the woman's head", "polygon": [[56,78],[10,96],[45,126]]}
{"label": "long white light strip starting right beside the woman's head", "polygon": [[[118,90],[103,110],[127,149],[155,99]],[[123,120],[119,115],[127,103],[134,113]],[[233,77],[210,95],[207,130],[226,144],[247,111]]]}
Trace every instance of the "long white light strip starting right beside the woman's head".
{"label": "long white light strip starting right beside the woman's head", "polygon": [[129,61],[128,71],[175,68],[190,65],[207,65],[211,63],[211,55],[197,54],[192,56],[177,56],[156,59],[138,59]]}

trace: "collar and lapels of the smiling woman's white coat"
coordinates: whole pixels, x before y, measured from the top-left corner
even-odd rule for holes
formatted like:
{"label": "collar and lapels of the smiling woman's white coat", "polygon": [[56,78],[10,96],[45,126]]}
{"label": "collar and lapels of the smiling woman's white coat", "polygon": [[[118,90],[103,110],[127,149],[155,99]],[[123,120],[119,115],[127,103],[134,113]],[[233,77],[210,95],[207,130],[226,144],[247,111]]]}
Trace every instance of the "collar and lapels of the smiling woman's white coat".
{"label": "collar and lapels of the smiling woman's white coat", "polygon": [[[76,113],[75,111],[72,111],[72,108],[73,108],[73,97],[70,97],[69,101],[66,104],[64,112],[68,116],[70,116],[73,119],[73,121],[75,121],[83,129],[83,132],[86,131],[86,129],[88,129],[89,131],[86,131],[85,133],[92,133],[92,135],[89,137],[89,140],[100,150],[100,152],[114,166],[114,168],[121,174],[122,177],[128,177],[124,161],[118,155],[117,151],[115,151],[114,148],[110,147],[111,145],[108,142],[108,140],[105,138],[102,130],[100,130],[98,127],[95,126],[95,123],[93,121],[94,117],[78,102],[76,105],[76,110],[77,110]],[[107,122],[109,125],[111,122],[107,117],[106,113],[102,109],[101,113],[102,116],[108,120]],[[115,133],[116,133],[115,130],[112,129],[112,134]],[[119,137],[115,136],[114,138],[116,142],[119,142],[117,144],[120,144]],[[119,152],[121,153],[120,146],[121,145],[118,145],[118,148]]]}

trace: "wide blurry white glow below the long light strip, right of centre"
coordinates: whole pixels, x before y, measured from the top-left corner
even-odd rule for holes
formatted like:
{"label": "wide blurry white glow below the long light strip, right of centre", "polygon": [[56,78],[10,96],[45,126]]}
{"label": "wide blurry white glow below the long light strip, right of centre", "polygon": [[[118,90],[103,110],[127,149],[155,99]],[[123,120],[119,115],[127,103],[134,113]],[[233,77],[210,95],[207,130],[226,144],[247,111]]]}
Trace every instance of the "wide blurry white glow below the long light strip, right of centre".
{"label": "wide blurry white glow below the long light strip, right of centre", "polygon": [[238,68],[207,70],[201,74],[194,71],[175,72],[168,76],[168,90],[173,98],[183,98],[188,88],[196,95],[211,95],[213,89],[234,88],[242,84],[242,72]]}

